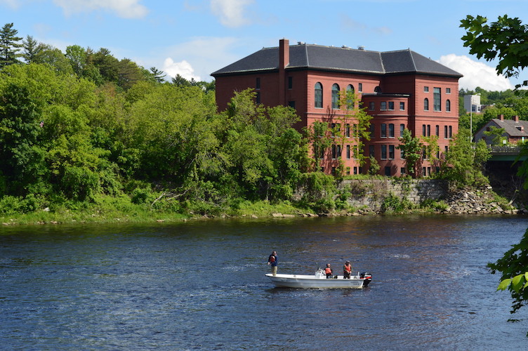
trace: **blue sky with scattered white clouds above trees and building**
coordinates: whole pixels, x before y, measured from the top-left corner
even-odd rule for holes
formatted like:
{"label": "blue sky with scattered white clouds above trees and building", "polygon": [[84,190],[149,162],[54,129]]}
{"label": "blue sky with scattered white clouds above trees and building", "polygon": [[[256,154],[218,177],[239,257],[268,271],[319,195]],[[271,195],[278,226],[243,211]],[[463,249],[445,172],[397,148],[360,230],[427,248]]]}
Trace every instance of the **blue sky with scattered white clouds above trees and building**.
{"label": "blue sky with scattered white clouds above trees and building", "polygon": [[366,50],[411,48],[464,74],[461,88],[513,88],[493,62],[463,47],[460,20],[508,14],[528,23],[527,0],[0,0],[0,25],[62,51],[108,48],[168,76],[211,72],[263,47],[303,41]]}

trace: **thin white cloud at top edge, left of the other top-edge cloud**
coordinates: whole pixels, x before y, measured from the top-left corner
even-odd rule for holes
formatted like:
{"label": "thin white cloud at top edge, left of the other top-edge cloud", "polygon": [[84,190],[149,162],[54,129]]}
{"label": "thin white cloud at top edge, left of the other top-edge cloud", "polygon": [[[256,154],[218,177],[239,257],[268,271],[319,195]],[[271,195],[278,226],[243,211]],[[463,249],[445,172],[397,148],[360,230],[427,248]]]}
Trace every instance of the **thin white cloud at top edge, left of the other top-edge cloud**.
{"label": "thin white cloud at top edge, left of the other top-edge cloud", "polygon": [[53,0],[66,15],[102,9],[115,12],[121,18],[143,18],[148,10],[139,2],[140,0]]}

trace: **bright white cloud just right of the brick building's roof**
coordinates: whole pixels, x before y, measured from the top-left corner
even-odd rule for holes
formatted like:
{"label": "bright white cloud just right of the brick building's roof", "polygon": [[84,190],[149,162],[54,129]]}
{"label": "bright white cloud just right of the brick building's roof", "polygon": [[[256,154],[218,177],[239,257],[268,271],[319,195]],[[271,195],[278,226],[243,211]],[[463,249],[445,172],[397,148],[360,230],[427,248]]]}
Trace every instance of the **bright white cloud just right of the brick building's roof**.
{"label": "bright white cloud just right of the brick building's roof", "polygon": [[460,88],[473,90],[480,86],[487,91],[505,91],[514,88],[508,78],[497,74],[494,67],[474,61],[468,56],[451,53],[442,56],[438,62],[463,74],[464,77],[458,81]]}

